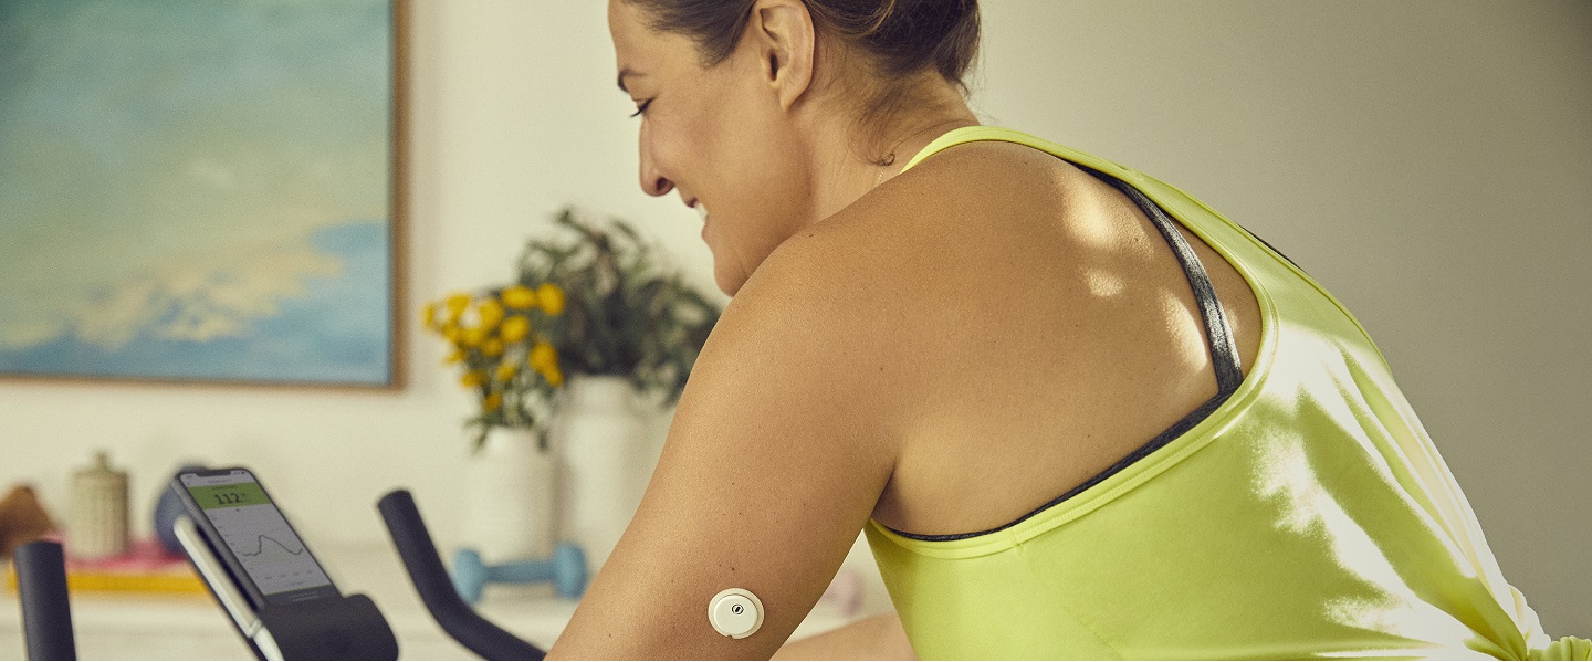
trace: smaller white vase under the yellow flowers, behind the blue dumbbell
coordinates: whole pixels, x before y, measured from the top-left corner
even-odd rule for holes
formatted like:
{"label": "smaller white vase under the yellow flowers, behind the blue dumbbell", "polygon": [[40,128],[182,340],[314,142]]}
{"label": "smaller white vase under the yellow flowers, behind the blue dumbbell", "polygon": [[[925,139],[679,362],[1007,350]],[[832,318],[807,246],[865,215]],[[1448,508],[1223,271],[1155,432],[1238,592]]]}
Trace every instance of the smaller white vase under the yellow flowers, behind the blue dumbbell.
{"label": "smaller white vase under the yellow flowers, behind the blue dumbbell", "polygon": [[552,555],[554,460],[524,428],[490,428],[470,458],[463,546],[487,563]]}

